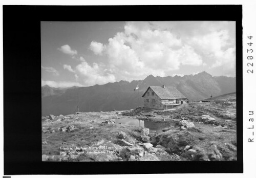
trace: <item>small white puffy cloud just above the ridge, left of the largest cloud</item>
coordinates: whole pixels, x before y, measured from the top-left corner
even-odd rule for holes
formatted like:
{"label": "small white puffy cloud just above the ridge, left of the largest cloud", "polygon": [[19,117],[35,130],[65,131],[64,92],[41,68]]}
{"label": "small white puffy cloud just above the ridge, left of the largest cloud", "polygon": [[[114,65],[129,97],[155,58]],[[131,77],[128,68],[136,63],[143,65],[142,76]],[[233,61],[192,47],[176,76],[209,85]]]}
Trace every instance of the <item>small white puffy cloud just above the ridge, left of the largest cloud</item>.
{"label": "small white puffy cloud just above the ridge, left of the largest cloud", "polygon": [[83,83],[86,86],[115,82],[115,76],[113,74],[106,73],[103,67],[104,66],[98,65],[96,62],[91,66],[84,61],[76,66],[76,70],[79,72],[81,76],[80,78],[82,78]]}

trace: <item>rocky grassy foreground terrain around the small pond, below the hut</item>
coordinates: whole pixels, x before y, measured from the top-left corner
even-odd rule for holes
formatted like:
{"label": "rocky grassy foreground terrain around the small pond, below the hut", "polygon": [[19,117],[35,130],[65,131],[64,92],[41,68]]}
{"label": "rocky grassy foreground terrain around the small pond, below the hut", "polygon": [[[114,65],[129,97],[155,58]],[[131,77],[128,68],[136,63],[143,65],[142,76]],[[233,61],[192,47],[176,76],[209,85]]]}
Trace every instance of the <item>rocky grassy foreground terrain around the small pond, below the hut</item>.
{"label": "rocky grassy foreground terrain around the small pond, below the hut", "polygon": [[[163,128],[114,122],[124,117]],[[42,117],[42,161],[232,161],[237,160],[236,127],[235,102],[50,115]]]}

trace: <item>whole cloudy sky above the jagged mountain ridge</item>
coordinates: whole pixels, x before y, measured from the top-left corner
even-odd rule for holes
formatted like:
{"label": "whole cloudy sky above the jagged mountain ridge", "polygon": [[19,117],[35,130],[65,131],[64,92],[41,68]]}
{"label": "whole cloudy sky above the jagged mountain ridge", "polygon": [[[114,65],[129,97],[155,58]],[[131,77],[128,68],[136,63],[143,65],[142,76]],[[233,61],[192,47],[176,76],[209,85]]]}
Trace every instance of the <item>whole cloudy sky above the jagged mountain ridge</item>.
{"label": "whole cloudy sky above the jagged mountain ridge", "polygon": [[236,77],[235,21],[41,21],[41,85]]}

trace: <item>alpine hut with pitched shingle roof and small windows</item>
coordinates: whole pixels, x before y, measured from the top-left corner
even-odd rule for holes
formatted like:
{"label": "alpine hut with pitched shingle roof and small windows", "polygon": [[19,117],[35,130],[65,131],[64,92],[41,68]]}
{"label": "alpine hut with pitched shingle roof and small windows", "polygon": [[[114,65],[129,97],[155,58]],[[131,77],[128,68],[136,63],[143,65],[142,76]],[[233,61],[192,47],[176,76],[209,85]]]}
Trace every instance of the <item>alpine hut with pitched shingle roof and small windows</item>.
{"label": "alpine hut with pitched shingle roof and small windows", "polygon": [[170,109],[187,103],[188,99],[174,86],[149,86],[142,95],[145,108]]}

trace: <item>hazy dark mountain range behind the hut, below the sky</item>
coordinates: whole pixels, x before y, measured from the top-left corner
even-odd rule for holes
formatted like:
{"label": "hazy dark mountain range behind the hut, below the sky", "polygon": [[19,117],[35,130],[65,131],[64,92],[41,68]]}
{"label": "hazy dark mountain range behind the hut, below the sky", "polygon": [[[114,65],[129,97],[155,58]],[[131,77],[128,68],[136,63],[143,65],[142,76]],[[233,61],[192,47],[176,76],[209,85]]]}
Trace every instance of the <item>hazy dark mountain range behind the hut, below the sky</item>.
{"label": "hazy dark mountain range behind the hut, below the sky", "polygon": [[[196,75],[154,77],[132,82],[119,81],[87,87],[54,88],[48,85],[41,87],[42,116],[68,115],[78,111],[95,112],[127,110],[143,106],[141,97],[148,86],[175,86],[185,97],[191,100],[203,100],[210,95],[218,96],[236,92],[235,77],[212,77],[201,72]],[[134,91],[136,86],[139,89]]]}

